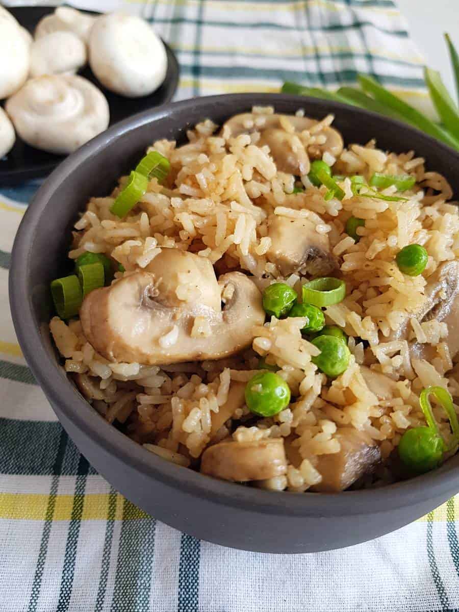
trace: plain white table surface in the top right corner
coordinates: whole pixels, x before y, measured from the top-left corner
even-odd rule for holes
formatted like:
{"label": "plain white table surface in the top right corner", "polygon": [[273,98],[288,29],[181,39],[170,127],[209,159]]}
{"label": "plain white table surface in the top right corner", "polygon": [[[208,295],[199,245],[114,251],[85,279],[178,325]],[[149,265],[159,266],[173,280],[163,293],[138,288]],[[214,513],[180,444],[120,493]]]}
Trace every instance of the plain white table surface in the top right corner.
{"label": "plain white table surface in the top right corner", "polygon": [[441,72],[450,92],[455,91],[453,73],[443,40],[448,32],[459,48],[458,0],[396,0],[408,21],[409,32],[427,65]]}

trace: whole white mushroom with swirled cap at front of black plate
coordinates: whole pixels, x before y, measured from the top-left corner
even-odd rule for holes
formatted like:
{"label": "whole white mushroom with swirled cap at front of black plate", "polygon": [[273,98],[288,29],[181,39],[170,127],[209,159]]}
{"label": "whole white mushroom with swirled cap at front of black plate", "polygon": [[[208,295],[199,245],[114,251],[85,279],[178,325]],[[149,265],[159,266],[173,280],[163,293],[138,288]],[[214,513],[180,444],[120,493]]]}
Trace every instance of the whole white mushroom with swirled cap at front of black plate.
{"label": "whole white mushroom with swirled cap at front of black plate", "polygon": [[10,97],[6,110],[18,135],[31,146],[67,154],[103,132],[105,96],[81,76],[39,76]]}

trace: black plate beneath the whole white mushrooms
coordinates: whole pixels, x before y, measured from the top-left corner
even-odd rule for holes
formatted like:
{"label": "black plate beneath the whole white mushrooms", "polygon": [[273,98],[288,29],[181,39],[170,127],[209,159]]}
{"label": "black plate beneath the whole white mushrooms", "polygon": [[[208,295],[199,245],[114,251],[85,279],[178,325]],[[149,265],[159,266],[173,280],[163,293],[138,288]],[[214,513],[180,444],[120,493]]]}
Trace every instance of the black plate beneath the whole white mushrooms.
{"label": "black plate beneath the whole white mushrooms", "polygon": [[[33,34],[35,26],[40,19],[45,17],[45,15],[53,13],[54,8],[51,6],[24,6],[8,10],[19,21],[21,26],[24,26],[24,28]],[[100,13],[93,14],[98,15]],[[78,74],[94,83],[108,100],[108,106],[110,106],[110,125],[121,121],[121,119],[126,119],[135,113],[154,108],[154,106],[160,106],[171,100],[179,81],[179,65],[171,48],[166,43],[164,44],[168,60],[166,78],[162,86],[151,95],[141,98],[125,98],[103,88],[92,74],[89,65],[80,70]],[[17,136],[17,140],[9,154],[0,159],[0,185],[14,185],[28,179],[47,176],[63,159],[63,155],[53,155],[52,153],[35,149],[24,143]]]}

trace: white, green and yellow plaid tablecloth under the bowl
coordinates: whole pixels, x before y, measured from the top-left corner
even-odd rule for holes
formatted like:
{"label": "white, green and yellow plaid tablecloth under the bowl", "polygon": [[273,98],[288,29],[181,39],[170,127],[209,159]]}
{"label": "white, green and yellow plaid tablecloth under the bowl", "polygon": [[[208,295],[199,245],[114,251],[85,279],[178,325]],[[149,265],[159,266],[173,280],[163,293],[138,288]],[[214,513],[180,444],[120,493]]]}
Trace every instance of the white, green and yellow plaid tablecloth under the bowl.
{"label": "white, green and yellow plaid tablecloth under the bowl", "polygon": [[[335,86],[359,71],[425,102],[423,59],[390,0],[78,6],[151,18],[181,64],[177,99],[277,91],[286,79]],[[459,610],[459,498],[373,542],[274,556],[200,542],[114,491],[67,438],[13,331],[10,252],[36,188],[0,186],[1,611]]]}

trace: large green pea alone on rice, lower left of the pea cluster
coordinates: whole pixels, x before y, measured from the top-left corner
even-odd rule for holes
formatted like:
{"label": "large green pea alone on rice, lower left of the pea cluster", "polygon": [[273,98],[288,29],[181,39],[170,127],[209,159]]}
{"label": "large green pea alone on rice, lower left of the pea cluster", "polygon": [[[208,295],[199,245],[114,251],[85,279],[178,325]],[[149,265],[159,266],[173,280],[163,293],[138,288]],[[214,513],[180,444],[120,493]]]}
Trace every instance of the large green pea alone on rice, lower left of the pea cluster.
{"label": "large green pea alone on rice, lower left of the pea cluster", "polygon": [[245,386],[245,403],[253,414],[272,417],[289,405],[290,389],[274,372],[260,372]]}

